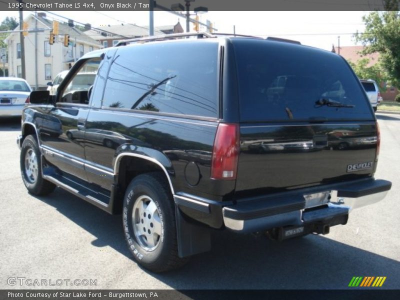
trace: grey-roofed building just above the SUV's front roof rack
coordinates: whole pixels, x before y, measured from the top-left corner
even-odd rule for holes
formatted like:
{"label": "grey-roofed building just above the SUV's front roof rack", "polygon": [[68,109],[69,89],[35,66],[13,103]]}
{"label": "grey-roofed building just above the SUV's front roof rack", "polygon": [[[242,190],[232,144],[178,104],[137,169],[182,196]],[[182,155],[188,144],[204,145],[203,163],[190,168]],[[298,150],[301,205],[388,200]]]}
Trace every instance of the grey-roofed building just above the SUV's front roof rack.
{"label": "grey-roofed building just above the SUV's front roof rack", "polygon": [[[106,48],[116,45],[123,39],[148,36],[148,26],[135,24],[107,25],[99,29],[89,29],[84,32],[91,38],[99,41]],[[183,28],[179,21],[175,25],[154,27],[154,35],[180,32],[183,32]]]}

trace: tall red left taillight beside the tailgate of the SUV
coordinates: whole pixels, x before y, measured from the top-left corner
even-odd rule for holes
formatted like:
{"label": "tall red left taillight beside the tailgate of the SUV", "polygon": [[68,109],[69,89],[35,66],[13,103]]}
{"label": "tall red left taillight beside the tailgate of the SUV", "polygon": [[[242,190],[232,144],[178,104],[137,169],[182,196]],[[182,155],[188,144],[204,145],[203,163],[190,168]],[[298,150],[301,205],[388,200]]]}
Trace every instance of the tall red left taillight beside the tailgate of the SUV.
{"label": "tall red left taillight beside the tailgate of the SUV", "polygon": [[235,179],[239,156],[239,125],[219,123],[212,149],[211,178]]}

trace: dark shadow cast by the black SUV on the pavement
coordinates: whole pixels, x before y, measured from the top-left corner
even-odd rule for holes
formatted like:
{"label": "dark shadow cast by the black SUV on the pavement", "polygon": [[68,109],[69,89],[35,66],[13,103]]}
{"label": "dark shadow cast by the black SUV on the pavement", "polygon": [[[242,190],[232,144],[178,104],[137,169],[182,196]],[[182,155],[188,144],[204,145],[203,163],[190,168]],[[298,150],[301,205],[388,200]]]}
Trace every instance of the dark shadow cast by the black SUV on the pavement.
{"label": "dark shadow cast by the black SUV on the pavement", "polygon": [[[93,234],[97,239],[92,245],[108,245],[132,258],[121,215],[109,215],[60,188],[37,198]],[[340,289],[347,288],[353,276],[387,276],[382,288],[399,287],[400,262],[324,236],[277,242],[260,235],[212,231],[211,237],[211,251],[193,256],[178,270],[143,270],[174,289]]]}

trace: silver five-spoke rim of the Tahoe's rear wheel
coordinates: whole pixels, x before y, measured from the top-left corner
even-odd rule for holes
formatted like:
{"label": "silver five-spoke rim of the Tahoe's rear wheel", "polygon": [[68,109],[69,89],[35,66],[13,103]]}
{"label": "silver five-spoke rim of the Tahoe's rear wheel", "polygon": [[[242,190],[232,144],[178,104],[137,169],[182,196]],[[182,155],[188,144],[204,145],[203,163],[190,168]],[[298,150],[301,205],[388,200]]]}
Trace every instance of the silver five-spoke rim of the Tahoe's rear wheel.
{"label": "silver five-spoke rim of the Tahoe's rear wheel", "polygon": [[132,226],[136,241],[146,251],[154,250],[161,238],[161,221],[157,205],[146,195],[138,197],[132,209]]}

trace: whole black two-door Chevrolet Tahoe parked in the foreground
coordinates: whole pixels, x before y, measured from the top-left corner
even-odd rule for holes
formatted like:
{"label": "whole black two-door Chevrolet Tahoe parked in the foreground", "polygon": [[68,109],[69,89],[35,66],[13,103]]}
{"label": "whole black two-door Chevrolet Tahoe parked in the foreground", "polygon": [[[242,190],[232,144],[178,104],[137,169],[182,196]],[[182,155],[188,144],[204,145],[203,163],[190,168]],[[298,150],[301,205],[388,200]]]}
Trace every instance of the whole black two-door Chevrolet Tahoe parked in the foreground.
{"label": "whole black two-door Chevrolet Tahoe parked in the foreground", "polygon": [[[72,84],[81,72],[96,75]],[[30,102],[17,137],[28,191],[59,186],[121,213],[152,271],[209,250],[215,229],[326,234],[391,187],[374,178],[379,127],[352,69],[290,40],[126,40],[83,55],[55,95]]]}

